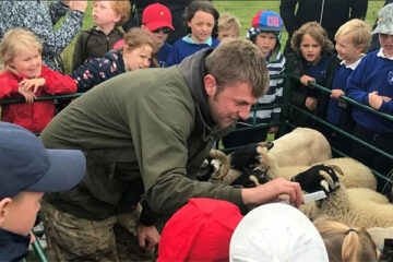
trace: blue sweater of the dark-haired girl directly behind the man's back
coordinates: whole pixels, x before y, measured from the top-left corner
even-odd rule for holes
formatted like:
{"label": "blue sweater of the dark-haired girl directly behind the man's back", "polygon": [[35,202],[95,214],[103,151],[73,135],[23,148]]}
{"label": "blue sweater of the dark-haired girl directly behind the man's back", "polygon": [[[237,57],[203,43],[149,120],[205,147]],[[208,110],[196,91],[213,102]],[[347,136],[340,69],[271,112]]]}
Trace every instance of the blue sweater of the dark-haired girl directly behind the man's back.
{"label": "blue sweater of the dark-haired girl directly behind the man's back", "polygon": [[213,37],[211,38],[212,45],[190,43],[187,40],[187,38],[188,36],[184,36],[174,43],[165,67],[168,68],[170,66],[178,64],[188,56],[191,56],[192,53],[198,52],[199,50],[206,47],[216,48],[219,44],[219,40]]}

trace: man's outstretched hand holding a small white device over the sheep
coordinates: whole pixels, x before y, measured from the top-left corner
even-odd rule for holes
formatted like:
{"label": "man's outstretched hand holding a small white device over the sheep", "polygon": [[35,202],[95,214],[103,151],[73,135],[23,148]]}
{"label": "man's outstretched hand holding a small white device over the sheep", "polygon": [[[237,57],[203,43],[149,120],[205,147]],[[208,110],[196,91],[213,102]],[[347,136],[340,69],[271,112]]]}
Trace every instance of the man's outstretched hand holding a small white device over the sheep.
{"label": "man's outstretched hand holding a small white device over the sheep", "polygon": [[277,202],[282,194],[289,195],[289,203],[299,207],[305,202],[303,194],[298,182],[290,182],[284,178],[276,178],[255,188],[241,189],[241,198],[245,204],[266,204]]}

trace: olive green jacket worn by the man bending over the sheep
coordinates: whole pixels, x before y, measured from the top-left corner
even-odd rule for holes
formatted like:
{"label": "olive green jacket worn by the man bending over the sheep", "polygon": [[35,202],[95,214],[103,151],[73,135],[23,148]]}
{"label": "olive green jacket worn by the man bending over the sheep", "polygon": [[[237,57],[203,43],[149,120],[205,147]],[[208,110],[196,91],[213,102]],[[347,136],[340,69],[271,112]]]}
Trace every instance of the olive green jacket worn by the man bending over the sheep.
{"label": "olive green jacket worn by the man bending over the sheep", "polygon": [[47,147],[84,151],[87,170],[75,188],[46,198],[90,219],[129,212],[143,193],[158,214],[201,196],[242,206],[240,189],[193,180],[213,142],[233,129],[210,117],[201,67],[210,51],[168,69],[123,73],[62,110],[40,139]]}

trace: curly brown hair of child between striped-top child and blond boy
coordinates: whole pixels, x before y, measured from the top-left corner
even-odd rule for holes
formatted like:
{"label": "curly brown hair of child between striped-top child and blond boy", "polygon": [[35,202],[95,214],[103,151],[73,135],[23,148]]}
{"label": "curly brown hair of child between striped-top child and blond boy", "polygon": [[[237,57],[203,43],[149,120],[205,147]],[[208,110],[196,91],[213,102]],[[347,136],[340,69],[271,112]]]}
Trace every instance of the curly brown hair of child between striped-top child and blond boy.
{"label": "curly brown hair of child between striped-top child and blond boy", "polygon": [[329,53],[333,51],[334,46],[329,39],[326,31],[317,22],[308,22],[301,25],[300,28],[294,33],[294,36],[290,40],[291,49],[298,55],[300,55],[301,40],[306,34],[309,34],[312,38],[315,39],[315,41],[318,41],[318,44],[321,46],[322,52]]}

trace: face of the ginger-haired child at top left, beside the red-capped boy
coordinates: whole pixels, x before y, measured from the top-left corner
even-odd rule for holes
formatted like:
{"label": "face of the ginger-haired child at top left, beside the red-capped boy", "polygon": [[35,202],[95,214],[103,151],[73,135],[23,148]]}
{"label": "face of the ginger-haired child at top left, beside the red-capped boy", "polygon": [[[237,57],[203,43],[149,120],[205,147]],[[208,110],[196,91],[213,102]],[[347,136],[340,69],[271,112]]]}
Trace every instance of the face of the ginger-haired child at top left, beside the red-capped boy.
{"label": "face of the ginger-haired child at top left, beside the red-capped boy", "polygon": [[116,14],[110,1],[95,1],[93,4],[93,20],[98,27],[115,26],[121,16]]}

